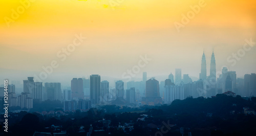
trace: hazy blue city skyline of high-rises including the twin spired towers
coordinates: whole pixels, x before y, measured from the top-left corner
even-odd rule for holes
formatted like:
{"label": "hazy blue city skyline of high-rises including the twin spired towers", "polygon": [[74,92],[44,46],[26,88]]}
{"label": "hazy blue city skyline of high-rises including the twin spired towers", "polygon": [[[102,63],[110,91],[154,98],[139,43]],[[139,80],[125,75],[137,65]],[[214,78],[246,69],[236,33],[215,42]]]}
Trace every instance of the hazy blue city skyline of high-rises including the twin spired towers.
{"label": "hazy blue city skyline of high-rises including the twin spired towers", "polygon": [[[175,76],[170,73],[168,79],[159,83],[155,78],[147,80],[143,72],[142,81],[115,82],[115,88],[110,88],[109,81],[101,81],[100,75],[91,75],[90,79],[73,78],[71,87],[61,89],[60,83],[35,82],[33,77],[23,80],[23,93],[15,94],[15,85],[9,84],[9,106],[33,108],[33,100],[61,100],[65,110],[88,109],[98,104],[120,105],[156,105],[172,103],[176,99],[186,97],[211,97],[225,92],[232,92],[243,97],[256,96],[256,74],[246,74],[244,78],[237,78],[234,71],[223,67],[216,71],[214,51],[210,59],[210,74],[207,76],[206,57],[203,52],[201,60],[200,79],[191,80],[188,74],[182,78],[181,69],[175,69]],[[220,76],[217,78],[216,74]],[[2,93],[1,93],[2,92]],[[3,103],[4,87],[0,87],[0,102]]]}

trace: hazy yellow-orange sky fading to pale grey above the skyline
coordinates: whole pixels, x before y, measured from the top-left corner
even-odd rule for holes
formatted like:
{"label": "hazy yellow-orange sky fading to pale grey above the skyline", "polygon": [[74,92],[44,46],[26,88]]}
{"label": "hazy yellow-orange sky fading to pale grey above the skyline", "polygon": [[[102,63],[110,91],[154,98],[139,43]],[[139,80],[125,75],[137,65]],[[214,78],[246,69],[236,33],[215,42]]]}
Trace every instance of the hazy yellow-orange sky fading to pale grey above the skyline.
{"label": "hazy yellow-orange sky fading to pale grey above the skyline", "polygon": [[[203,49],[209,75],[213,48],[217,71],[226,65],[237,72],[237,77],[256,73],[256,44],[233,66],[234,62],[227,61],[228,56],[243,49],[245,39],[256,42],[256,1],[206,0],[178,32],[175,22],[181,23],[182,14],[191,13],[190,6],[199,3],[199,0],[37,0],[30,2],[23,12],[19,0],[2,0],[0,78],[26,79],[33,76],[30,72],[38,75],[44,71],[42,66],[50,65],[53,60],[59,66],[48,77],[56,81],[60,75],[65,78],[65,74],[121,78],[145,55],[152,60],[136,77],[142,77],[143,71],[148,77],[175,74],[176,68],[182,69],[182,75],[199,77]],[[12,9],[17,8],[20,14],[13,18]],[[9,27],[7,18],[13,20]],[[61,61],[57,53],[73,43],[75,34],[80,33],[87,39]]]}

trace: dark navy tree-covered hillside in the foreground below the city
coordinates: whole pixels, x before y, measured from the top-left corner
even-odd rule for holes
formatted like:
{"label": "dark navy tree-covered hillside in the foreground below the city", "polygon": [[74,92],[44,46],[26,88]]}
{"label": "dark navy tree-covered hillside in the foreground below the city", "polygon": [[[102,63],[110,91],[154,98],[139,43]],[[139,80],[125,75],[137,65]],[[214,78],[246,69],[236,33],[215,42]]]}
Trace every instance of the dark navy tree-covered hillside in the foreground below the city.
{"label": "dark navy tree-covered hillside in the foreground below the city", "polygon": [[[60,107],[58,103],[55,104]],[[47,108],[56,108],[51,106]],[[255,135],[256,116],[245,115],[244,107],[255,110],[256,98],[245,100],[240,96],[226,95],[217,95],[214,98],[190,97],[175,100],[170,105],[143,105],[139,108],[103,105],[86,112],[76,110],[65,112],[67,115],[58,113],[54,116],[21,111],[17,115],[12,114],[8,134],[32,135],[34,131],[50,131],[45,128],[55,125],[62,126],[68,135],[79,135],[80,126],[84,126],[84,130],[88,132],[92,124],[94,129],[105,130],[103,135],[182,135],[181,129],[184,135]],[[110,120],[110,125],[105,127],[102,119]],[[133,124],[131,131],[125,128],[124,132],[118,128],[119,125],[127,123]],[[160,132],[162,127],[164,133]],[[92,135],[97,133],[93,132]]]}

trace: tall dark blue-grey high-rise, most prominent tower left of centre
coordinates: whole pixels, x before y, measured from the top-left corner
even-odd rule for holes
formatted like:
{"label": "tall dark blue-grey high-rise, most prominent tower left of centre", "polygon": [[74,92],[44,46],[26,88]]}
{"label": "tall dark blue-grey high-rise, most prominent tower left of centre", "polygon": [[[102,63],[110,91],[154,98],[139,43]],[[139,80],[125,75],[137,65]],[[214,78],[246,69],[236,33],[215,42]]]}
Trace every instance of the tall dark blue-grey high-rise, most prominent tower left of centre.
{"label": "tall dark blue-grey high-rise, most prominent tower left of centre", "polygon": [[94,104],[100,103],[100,76],[90,76],[90,99]]}

